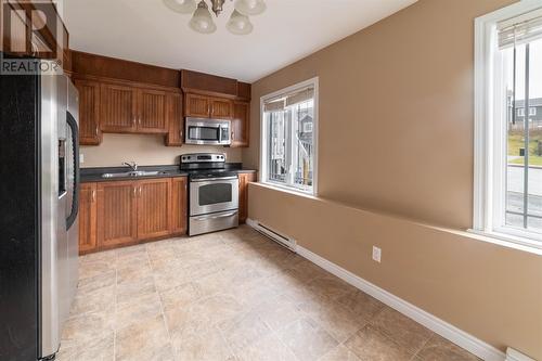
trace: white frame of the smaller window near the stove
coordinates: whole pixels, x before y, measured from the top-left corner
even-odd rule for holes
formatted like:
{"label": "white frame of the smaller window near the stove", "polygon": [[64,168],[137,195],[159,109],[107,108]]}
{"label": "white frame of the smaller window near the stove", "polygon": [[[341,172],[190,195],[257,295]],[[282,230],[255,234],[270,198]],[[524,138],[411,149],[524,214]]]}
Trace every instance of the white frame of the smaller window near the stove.
{"label": "white frame of the smaller window near the stove", "polygon": [[[307,191],[295,186],[289,186],[286,184],[281,184],[279,182],[268,181],[268,132],[269,127],[264,118],[264,104],[267,101],[281,96],[282,94],[291,93],[297,89],[306,87],[314,88],[314,105],[313,112],[314,117],[312,119],[312,139],[313,139],[313,165],[312,165],[312,190]],[[295,192],[304,195],[318,196],[318,123],[319,123],[319,77],[314,77],[294,86],[278,90],[270,94],[260,98],[260,182],[276,188],[279,190],[285,190],[289,192]]]}

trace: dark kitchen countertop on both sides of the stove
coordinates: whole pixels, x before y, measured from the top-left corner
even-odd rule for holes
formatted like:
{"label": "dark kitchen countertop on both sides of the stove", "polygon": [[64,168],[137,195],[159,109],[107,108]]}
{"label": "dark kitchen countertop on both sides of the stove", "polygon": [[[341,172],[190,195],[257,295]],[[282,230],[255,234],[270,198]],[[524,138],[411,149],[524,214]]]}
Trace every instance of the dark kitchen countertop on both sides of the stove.
{"label": "dark kitchen countertop on both sides of the stove", "polygon": [[[251,173],[256,172],[255,169],[243,169],[242,165],[238,163],[227,164],[228,170],[234,170],[238,173]],[[179,166],[141,166],[138,170],[145,171],[159,171],[159,175],[145,176],[145,177],[122,177],[122,178],[103,178],[103,173],[120,173],[130,171],[128,167],[99,167],[99,168],[81,168],[81,183],[90,182],[112,182],[112,181],[126,181],[126,180],[138,180],[138,179],[156,179],[156,178],[177,178],[177,177],[188,177],[186,171],[179,169]]]}

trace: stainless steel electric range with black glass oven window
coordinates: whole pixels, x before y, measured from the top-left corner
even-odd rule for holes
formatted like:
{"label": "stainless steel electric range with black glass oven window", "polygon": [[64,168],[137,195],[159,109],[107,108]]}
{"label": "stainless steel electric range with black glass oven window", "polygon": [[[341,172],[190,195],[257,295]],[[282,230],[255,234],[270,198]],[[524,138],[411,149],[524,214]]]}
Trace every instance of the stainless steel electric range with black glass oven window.
{"label": "stainless steel electric range with black glass oven window", "polygon": [[189,235],[238,225],[238,177],[224,169],[223,154],[184,154],[181,169],[189,171]]}

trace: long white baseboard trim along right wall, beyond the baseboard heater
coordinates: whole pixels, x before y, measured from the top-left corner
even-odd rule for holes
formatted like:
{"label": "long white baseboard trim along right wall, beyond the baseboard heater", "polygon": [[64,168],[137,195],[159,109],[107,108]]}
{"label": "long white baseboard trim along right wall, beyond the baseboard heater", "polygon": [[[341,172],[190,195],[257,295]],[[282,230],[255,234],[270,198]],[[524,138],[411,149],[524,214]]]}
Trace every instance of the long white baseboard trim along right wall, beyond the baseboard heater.
{"label": "long white baseboard trim along right wall, beyond the baseboard heater", "polygon": [[[402,314],[411,318],[417,323],[423,324],[433,332],[439,334],[440,336],[447,338],[448,340],[454,343],[455,345],[464,348],[470,353],[476,354],[482,360],[487,361],[504,361],[506,356],[494,348],[493,346],[474,337],[470,334],[451,325],[450,323],[440,320],[439,318],[422,310],[421,308],[409,304],[408,301],[390,294],[389,292],[363,280],[362,278],[345,270],[344,268],[328,261],[327,259],[320,257],[319,255],[310,252],[307,248],[297,245],[297,253],[310,260],[311,262],[320,266],[327,272],[335,274],[339,279],[346,281],[352,286],[363,291],[364,293],[373,296],[383,304],[396,309]],[[514,360],[514,359],[512,359]]]}

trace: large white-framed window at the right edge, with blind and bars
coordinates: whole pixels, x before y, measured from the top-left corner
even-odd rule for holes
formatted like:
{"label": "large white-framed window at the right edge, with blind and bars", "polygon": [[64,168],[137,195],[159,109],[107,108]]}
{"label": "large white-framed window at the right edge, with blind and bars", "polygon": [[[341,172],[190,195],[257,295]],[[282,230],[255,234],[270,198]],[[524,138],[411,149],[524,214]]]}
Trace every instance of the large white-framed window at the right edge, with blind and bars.
{"label": "large white-framed window at the right edge, with blind and bars", "polygon": [[477,20],[476,41],[474,225],[542,248],[542,9]]}

